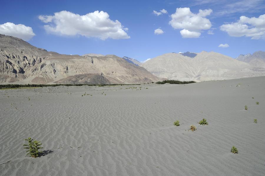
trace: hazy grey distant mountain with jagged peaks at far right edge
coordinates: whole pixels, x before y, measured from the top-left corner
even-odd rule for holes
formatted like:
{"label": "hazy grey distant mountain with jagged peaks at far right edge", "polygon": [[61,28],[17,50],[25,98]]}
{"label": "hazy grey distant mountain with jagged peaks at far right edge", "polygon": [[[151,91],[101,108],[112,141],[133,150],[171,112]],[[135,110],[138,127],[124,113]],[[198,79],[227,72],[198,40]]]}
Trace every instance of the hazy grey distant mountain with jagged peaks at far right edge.
{"label": "hazy grey distant mountain with jagged peaks at far right edge", "polygon": [[243,61],[249,63],[255,67],[265,68],[265,52],[264,51],[256,51],[253,54],[239,55],[236,60]]}

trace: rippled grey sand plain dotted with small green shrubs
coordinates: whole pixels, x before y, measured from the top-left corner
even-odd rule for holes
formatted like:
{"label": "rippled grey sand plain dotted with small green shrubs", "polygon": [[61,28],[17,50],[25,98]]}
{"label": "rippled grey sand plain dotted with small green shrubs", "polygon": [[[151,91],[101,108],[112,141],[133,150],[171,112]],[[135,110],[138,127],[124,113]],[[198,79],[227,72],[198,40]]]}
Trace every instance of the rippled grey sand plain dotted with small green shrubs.
{"label": "rippled grey sand plain dotted with small green shrubs", "polygon": [[[264,175],[264,104],[265,77],[0,90],[0,173]],[[28,137],[43,156],[26,156]]]}

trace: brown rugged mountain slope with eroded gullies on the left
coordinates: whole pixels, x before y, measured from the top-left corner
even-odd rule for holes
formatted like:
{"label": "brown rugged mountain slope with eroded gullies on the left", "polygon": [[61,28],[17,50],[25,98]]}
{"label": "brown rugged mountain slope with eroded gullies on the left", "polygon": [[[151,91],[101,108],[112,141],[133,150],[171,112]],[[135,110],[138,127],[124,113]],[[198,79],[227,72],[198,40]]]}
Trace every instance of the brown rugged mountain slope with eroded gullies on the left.
{"label": "brown rugged mountain slope with eroded gullies on the left", "polygon": [[0,34],[1,84],[129,84],[160,80],[145,68],[114,55],[64,55]]}

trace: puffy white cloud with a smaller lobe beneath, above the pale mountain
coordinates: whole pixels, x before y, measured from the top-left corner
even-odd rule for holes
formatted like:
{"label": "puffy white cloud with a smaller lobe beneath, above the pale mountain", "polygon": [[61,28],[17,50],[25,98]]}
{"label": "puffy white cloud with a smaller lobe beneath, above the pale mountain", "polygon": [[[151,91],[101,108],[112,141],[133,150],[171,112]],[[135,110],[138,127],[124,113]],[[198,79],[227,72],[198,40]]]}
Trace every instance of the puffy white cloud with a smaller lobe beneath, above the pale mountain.
{"label": "puffy white cloud with a smaller lobe beneath, above the pale mountain", "polygon": [[174,29],[183,29],[180,31],[183,38],[198,38],[201,31],[211,28],[211,21],[205,17],[212,12],[212,9],[200,9],[198,14],[193,14],[188,7],[177,8],[176,12],[171,14],[169,24]]}

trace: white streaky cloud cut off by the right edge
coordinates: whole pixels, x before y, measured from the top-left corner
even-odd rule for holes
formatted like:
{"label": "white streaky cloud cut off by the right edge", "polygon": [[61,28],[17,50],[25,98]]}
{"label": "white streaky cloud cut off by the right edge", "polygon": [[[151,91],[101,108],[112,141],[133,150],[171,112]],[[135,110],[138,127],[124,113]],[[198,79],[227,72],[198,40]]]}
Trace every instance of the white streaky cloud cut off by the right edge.
{"label": "white streaky cloud cut off by the right edge", "polygon": [[220,26],[221,31],[225,31],[233,37],[251,37],[251,39],[265,38],[265,14],[258,18],[248,18],[241,16],[240,19],[231,24]]}

